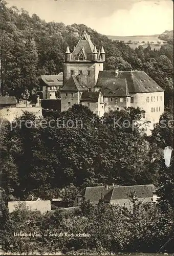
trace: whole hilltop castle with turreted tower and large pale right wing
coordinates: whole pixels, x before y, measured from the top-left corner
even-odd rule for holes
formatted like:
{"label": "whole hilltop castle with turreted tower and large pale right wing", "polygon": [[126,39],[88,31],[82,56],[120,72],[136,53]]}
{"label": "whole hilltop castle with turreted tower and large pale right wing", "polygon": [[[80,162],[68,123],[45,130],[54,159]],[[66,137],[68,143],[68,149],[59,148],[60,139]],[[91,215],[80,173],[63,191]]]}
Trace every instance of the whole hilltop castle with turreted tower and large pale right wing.
{"label": "whole hilltop castle with turreted tower and large pale right wing", "polygon": [[61,111],[73,104],[88,106],[99,117],[111,110],[139,107],[151,127],[164,112],[164,90],[144,71],[103,71],[105,52],[93,45],[83,32],[71,53],[67,47],[63,62]]}

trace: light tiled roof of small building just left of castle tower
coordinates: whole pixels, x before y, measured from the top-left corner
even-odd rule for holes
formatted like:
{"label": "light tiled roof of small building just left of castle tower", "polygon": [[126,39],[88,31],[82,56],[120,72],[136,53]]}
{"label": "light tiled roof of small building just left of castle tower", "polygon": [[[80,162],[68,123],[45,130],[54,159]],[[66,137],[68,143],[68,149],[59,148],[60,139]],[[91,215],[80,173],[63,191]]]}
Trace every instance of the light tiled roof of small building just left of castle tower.
{"label": "light tiled roof of small building just left of castle tower", "polygon": [[58,75],[46,75],[39,76],[39,81],[43,81],[46,86],[62,86],[63,85],[63,73]]}

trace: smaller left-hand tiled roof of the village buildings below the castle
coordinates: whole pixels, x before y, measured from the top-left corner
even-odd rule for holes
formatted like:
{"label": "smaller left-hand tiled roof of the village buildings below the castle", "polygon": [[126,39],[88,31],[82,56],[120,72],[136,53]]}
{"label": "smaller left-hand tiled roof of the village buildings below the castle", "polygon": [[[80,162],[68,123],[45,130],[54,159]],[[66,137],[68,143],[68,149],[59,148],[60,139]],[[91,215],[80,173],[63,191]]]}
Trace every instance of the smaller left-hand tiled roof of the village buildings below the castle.
{"label": "smaller left-hand tiled roof of the village buildings below the castle", "polygon": [[77,196],[82,196],[86,200],[90,200],[91,203],[98,203],[101,199],[101,195],[104,196],[108,191],[112,189],[113,187],[106,189],[105,186],[86,187]]}

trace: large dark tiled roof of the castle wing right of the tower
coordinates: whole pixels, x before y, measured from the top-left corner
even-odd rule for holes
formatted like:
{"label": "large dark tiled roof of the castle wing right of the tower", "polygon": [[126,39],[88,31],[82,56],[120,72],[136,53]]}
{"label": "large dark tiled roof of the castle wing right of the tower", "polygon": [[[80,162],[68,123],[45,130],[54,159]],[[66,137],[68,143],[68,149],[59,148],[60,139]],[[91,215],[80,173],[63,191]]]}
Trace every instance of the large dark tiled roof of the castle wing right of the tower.
{"label": "large dark tiled roof of the castle wing right of the tower", "polygon": [[144,71],[99,71],[97,88],[103,96],[128,96],[130,93],[163,92]]}

